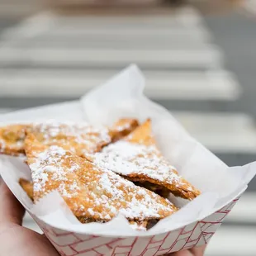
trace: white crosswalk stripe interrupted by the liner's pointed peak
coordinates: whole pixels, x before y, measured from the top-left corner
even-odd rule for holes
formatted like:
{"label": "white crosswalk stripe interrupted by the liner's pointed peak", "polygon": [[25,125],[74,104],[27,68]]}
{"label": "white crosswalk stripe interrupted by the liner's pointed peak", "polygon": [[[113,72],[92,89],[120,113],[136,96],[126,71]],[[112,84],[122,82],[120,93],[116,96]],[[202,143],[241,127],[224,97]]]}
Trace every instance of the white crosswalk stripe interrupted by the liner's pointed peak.
{"label": "white crosswalk stripe interrupted by the liner's pointed peak", "polygon": [[[64,69],[0,69],[2,97],[80,97],[105,83],[116,71]],[[225,71],[145,71],[145,94],[154,99],[236,100],[241,92],[235,77]]]}

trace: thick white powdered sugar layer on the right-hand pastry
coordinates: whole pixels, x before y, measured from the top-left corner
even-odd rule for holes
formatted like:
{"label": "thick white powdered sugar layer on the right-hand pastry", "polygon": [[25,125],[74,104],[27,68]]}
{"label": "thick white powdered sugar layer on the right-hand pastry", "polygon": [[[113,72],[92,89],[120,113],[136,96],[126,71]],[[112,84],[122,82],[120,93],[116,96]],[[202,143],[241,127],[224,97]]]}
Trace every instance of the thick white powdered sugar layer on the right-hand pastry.
{"label": "thick white powdered sugar layer on the right-hand pastry", "polygon": [[154,146],[130,143],[126,140],[108,145],[102,152],[90,155],[93,163],[101,168],[107,168],[115,173],[128,176],[132,173],[145,174],[160,182],[173,183],[180,177],[175,168],[159,154]]}

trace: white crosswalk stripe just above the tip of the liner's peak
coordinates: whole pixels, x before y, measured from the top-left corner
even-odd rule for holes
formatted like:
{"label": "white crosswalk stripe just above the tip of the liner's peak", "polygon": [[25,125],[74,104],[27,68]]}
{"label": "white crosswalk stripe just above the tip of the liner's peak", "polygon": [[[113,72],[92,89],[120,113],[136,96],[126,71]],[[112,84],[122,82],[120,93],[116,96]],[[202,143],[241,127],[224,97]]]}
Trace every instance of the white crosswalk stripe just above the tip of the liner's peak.
{"label": "white crosswalk stripe just above the tip of the liner's peak", "polygon": [[49,67],[124,67],[136,63],[148,68],[220,67],[220,51],[217,49],[205,50],[87,50],[87,49],[0,49],[0,64],[34,64],[48,65]]}

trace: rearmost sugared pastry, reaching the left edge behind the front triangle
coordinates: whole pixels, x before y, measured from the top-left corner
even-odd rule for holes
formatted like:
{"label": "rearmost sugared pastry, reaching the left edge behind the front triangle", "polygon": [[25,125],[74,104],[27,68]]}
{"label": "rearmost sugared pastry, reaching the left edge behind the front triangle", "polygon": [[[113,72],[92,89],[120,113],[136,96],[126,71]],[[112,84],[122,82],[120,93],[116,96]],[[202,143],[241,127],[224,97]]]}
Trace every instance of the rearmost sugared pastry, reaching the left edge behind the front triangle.
{"label": "rearmost sugared pastry, reaching the left edge behind the front triangle", "polygon": [[121,119],[111,128],[94,127],[88,123],[45,121],[31,125],[0,127],[0,153],[24,154],[26,132],[33,132],[36,139],[44,145],[59,145],[64,149],[84,157],[118,140],[138,126],[135,119]]}

